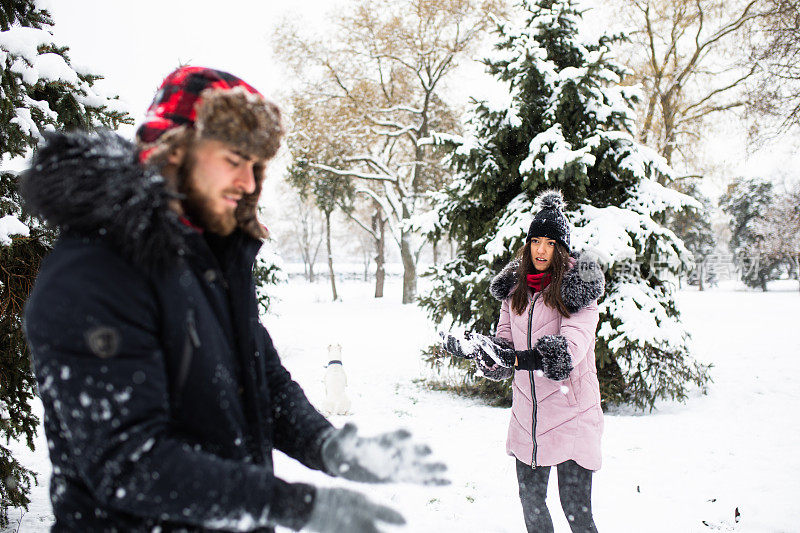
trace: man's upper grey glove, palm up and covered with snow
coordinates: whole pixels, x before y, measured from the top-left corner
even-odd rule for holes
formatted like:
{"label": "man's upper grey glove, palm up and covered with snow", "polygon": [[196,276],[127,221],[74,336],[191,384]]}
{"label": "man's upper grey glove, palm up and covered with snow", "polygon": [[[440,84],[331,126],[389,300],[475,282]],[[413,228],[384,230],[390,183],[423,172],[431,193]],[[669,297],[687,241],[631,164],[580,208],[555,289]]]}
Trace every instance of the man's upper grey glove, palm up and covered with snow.
{"label": "man's upper grey glove, palm up and covered with snow", "polygon": [[331,431],[322,444],[322,461],[332,476],[363,483],[407,481],[447,485],[440,477],[447,467],[427,460],[431,449],[411,441],[404,429],[375,437],[359,437],[355,424]]}

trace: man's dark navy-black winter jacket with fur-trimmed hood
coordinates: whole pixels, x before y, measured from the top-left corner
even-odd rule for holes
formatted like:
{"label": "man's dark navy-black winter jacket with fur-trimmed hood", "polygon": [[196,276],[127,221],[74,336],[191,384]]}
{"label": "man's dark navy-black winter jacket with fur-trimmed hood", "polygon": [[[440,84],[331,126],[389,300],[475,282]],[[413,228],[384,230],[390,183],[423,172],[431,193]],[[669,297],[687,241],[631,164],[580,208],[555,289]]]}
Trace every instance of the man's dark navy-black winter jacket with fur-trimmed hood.
{"label": "man's dark navy-black winter jacket with fur-trimmed hood", "polygon": [[301,527],[314,490],[272,449],[321,469],[331,426],[260,324],[260,243],[182,224],[112,134],[51,135],[23,194],[63,235],[25,313],[54,531]]}

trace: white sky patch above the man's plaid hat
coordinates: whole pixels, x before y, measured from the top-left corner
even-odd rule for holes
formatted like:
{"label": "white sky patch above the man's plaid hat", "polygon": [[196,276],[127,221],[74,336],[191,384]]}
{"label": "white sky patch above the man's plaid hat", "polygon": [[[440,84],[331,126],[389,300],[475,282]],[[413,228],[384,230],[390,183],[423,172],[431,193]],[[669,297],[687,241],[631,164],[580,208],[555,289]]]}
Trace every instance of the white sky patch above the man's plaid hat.
{"label": "white sky patch above the man's plaid hat", "polygon": [[161,80],[182,63],[226,70],[265,95],[279,92],[281,72],[270,52],[274,24],[287,15],[324,24],[336,4],[50,0],[49,9],[54,34],[70,47],[73,63],[102,74],[101,87],[119,94],[138,122]]}

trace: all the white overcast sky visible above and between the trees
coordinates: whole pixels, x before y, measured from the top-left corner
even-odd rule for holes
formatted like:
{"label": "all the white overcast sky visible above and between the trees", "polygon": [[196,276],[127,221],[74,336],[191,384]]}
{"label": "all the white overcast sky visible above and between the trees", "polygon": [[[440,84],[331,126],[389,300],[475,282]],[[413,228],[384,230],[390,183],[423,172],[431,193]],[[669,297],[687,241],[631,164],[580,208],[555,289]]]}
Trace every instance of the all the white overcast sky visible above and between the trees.
{"label": "all the white overcast sky visible above and between the trees", "polygon": [[[181,63],[229,71],[279,101],[286,77],[271,54],[275,24],[295,16],[303,26],[322,30],[337,6],[348,0],[39,1],[52,13],[53,31],[70,47],[73,63],[105,76],[99,88],[120,95],[138,123],[161,80]],[[481,79],[480,66],[466,65],[461,76],[466,83],[451,83],[457,101],[465,103],[470,91],[491,91],[491,82]],[[123,133],[132,135],[133,128]],[[800,175],[797,145],[797,139],[784,139],[748,154],[741,132],[729,121],[713,132],[708,145],[718,172],[716,179],[708,180],[707,194],[716,196],[735,175]]]}

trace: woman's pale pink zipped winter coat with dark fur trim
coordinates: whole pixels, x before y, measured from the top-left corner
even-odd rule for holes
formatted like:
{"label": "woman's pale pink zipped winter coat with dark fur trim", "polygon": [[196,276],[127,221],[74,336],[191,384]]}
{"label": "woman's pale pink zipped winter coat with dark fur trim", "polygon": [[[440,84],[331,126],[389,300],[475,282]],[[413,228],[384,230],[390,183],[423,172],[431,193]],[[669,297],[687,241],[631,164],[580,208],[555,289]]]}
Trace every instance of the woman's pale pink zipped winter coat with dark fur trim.
{"label": "woman's pale pink zipped winter coat with dark fur trim", "polygon": [[552,466],[572,459],[598,470],[603,412],[594,347],[603,273],[594,260],[579,255],[572,259],[561,285],[568,318],[547,306],[541,295],[531,296],[518,315],[511,308],[518,266],[517,261],[509,263],[490,285],[492,296],[502,301],[496,334],[511,340],[517,350],[528,349],[529,323],[531,347],[545,335],[563,336],[573,370],[559,382],[541,372],[514,373],[506,451],[529,465]]}

